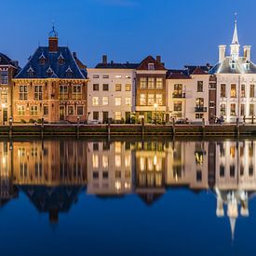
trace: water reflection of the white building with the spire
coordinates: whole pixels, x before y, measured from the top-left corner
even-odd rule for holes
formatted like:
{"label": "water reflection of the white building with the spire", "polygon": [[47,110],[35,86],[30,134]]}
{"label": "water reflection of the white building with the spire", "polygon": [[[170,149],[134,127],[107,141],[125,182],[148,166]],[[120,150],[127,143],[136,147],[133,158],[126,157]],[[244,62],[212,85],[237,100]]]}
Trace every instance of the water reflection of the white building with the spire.
{"label": "water reflection of the white building with the spire", "polygon": [[238,206],[241,216],[249,216],[249,196],[256,191],[255,141],[225,141],[216,148],[217,216],[224,216],[227,206],[232,236],[234,237]]}

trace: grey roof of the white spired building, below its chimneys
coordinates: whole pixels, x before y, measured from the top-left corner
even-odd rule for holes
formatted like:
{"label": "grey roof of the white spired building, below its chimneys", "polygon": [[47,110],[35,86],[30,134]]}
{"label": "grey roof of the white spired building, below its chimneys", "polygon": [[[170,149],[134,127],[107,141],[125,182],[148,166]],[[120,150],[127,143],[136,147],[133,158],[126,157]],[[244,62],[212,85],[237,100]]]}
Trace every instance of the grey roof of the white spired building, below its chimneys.
{"label": "grey roof of the white spired building, below its chimneys", "polygon": [[[232,63],[235,64],[235,68],[232,67]],[[216,64],[209,74],[256,74],[256,65],[251,61],[245,61],[244,58],[232,61],[231,57],[227,57]]]}

